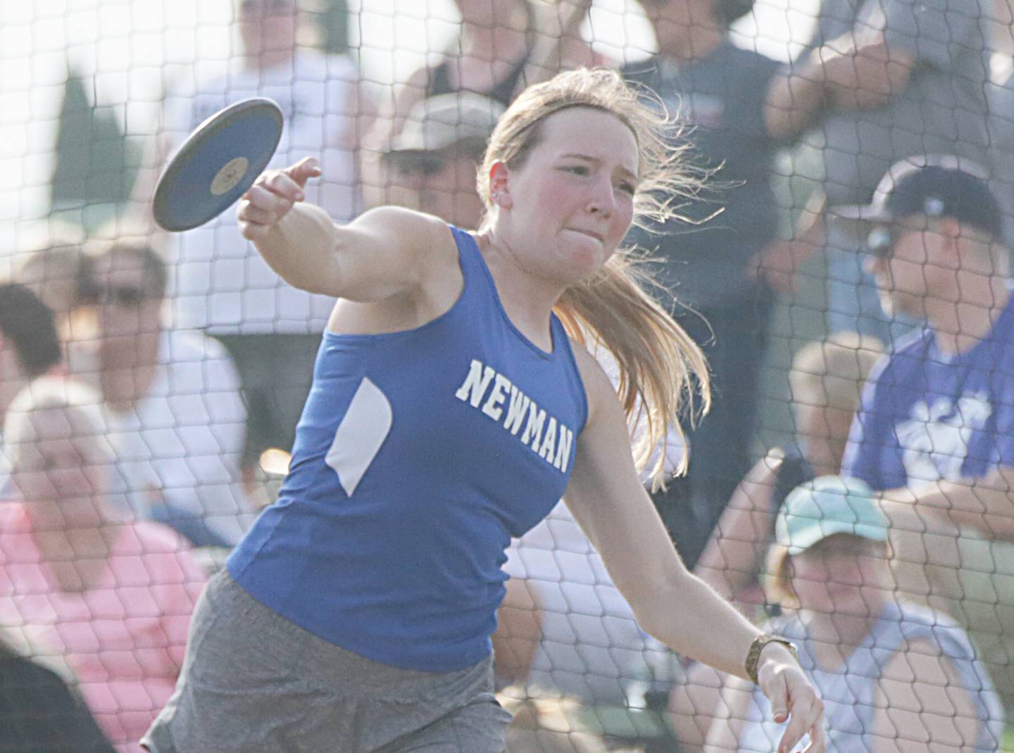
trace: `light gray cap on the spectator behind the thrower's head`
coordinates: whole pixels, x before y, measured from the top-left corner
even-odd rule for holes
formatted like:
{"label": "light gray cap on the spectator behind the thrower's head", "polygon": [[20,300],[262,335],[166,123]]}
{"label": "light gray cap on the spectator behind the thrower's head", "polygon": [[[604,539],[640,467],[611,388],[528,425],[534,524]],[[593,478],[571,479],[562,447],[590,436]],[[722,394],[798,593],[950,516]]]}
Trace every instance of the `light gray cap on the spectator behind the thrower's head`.
{"label": "light gray cap on the spectator behind the thrower's head", "polygon": [[503,111],[497,100],[470,91],[428,97],[412,108],[386,151],[435,152],[469,139],[485,143]]}

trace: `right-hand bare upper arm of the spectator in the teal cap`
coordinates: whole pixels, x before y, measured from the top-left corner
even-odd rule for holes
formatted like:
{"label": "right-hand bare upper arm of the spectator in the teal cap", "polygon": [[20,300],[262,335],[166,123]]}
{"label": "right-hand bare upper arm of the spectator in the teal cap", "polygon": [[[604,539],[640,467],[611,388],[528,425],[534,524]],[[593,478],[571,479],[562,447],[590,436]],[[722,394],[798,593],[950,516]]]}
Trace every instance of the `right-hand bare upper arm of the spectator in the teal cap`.
{"label": "right-hand bare upper arm of the spectator in the teal cap", "polygon": [[874,698],[871,753],[971,753],[983,724],[953,662],[929,641],[899,649]]}

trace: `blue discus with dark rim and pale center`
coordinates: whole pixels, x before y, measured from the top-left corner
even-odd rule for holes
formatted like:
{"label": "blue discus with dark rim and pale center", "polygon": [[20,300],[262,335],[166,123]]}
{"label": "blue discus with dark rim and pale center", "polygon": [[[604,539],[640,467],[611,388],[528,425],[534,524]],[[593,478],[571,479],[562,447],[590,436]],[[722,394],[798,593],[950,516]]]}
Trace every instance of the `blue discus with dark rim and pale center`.
{"label": "blue discus with dark rim and pale center", "polygon": [[158,178],[152,213],[180,232],[231,207],[254,184],[282,138],[282,109],[264,97],[220,109],[184,142]]}

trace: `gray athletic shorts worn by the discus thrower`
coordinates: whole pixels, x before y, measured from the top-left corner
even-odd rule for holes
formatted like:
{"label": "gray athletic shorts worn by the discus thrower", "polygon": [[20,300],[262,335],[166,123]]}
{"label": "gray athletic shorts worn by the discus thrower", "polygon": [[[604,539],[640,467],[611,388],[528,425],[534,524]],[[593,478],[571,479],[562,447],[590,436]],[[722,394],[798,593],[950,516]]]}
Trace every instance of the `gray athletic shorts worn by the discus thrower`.
{"label": "gray athletic shorts worn by the discus thrower", "polygon": [[228,573],[198,603],[153,753],[503,753],[511,716],[492,657],[416,672],[344,651],[257,601]]}

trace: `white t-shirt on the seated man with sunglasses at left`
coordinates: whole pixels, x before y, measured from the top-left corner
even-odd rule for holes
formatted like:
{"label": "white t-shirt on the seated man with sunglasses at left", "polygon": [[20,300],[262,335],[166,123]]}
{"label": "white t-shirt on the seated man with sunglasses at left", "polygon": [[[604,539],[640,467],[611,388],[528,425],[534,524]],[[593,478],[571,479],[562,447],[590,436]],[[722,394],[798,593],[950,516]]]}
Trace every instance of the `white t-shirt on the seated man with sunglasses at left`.
{"label": "white t-shirt on the seated man with sunglasses at left", "polygon": [[110,442],[130,507],[148,517],[159,498],[204,516],[227,541],[252,523],[240,484],[246,408],[222,345],[195,331],[163,331],[147,396],[110,410]]}

